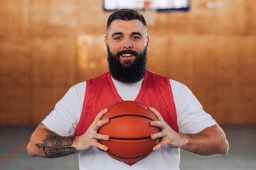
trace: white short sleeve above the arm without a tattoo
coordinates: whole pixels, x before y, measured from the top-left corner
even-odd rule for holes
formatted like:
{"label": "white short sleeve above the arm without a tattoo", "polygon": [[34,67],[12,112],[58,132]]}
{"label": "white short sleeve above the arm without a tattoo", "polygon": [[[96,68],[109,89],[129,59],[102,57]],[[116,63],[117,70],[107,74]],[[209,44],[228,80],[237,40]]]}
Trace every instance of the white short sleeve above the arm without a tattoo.
{"label": "white short sleeve above the arm without a tattoo", "polygon": [[178,130],[196,134],[216,124],[210,114],[203,111],[201,103],[187,86],[170,80],[176,106]]}

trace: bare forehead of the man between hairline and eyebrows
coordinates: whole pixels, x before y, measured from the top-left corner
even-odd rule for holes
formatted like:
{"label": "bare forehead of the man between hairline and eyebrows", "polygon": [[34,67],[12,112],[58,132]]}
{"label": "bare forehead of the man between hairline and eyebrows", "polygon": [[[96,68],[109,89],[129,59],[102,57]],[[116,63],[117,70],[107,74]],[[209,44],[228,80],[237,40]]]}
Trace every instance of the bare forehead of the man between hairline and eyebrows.
{"label": "bare forehead of the man between hairline and eyebrows", "polygon": [[114,20],[110,24],[110,27],[107,28],[107,33],[112,35],[112,33],[121,32],[121,33],[133,33],[139,32],[142,35],[146,35],[146,26],[139,20]]}

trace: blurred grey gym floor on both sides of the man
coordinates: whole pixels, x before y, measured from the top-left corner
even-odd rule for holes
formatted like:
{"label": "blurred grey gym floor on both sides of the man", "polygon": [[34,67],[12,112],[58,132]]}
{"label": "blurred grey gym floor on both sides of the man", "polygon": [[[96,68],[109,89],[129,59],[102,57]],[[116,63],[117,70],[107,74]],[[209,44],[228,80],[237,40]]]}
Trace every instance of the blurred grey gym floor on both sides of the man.
{"label": "blurred grey gym floor on both sides of the man", "polygon": [[[57,159],[28,157],[26,144],[35,127],[0,127],[0,169],[78,169],[78,154]],[[181,149],[181,170],[252,170],[256,167],[256,127],[224,127],[227,155],[201,157]]]}

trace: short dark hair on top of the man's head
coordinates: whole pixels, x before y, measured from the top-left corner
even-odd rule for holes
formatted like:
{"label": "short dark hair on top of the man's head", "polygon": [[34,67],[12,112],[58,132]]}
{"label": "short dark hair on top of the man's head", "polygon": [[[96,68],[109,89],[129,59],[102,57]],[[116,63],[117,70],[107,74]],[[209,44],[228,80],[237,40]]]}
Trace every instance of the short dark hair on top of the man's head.
{"label": "short dark hair on top of the man's head", "polygon": [[110,24],[114,20],[124,20],[124,21],[139,20],[143,23],[144,26],[146,26],[146,21],[142,16],[142,14],[139,13],[137,10],[129,9],[129,8],[123,8],[123,9],[114,11],[107,20],[107,28],[110,27]]}

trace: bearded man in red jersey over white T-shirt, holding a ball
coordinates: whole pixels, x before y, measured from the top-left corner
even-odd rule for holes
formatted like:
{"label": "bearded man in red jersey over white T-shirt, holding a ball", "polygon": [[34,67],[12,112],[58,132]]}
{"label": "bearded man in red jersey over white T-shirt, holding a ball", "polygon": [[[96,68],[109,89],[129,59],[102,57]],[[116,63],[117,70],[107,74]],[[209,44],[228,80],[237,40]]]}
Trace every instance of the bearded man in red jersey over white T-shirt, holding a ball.
{"label": "bearded man in red jersey over white T-shirt, holding a ball", "polygon": [[[180,150],[201,155],[226,154],[225,133],[191,91],[183,84],[146,69],[149,36],[146,22],[137,11],[122,9],[107,21],[105,45],[110,72],[73,86],[54,111],[36,128],[28,143],[31,157],[63,157],[79,152],[80,169],[179,169]],[[97,130],[107,108],[119,101],[139,101],[150,106],[159,121],[151,125],[161,132],[153,153],[129,166],[109,157],[109,140]],[[97,114],[98,113],[98,114]]]}

